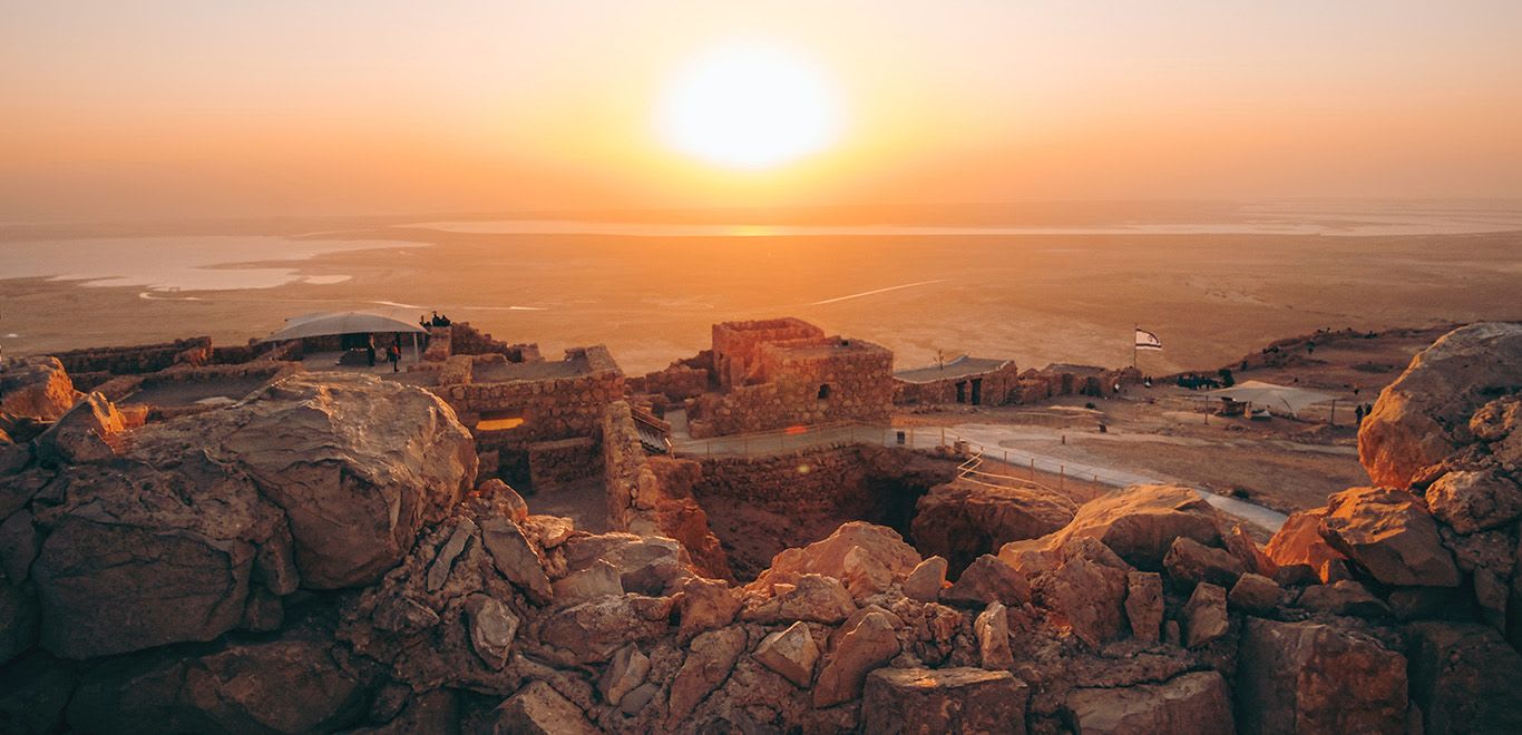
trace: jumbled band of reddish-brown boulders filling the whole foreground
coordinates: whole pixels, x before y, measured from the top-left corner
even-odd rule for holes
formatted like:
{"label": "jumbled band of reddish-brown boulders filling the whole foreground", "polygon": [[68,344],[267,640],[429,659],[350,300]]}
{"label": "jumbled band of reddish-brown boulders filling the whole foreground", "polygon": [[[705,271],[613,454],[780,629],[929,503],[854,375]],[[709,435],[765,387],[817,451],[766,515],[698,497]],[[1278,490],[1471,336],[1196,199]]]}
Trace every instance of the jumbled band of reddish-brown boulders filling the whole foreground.
{"label": "jumbled band of reddish-brown boulders filling the whole foreground", "polygon": [[1419,355],[1359,437],[1377,487],[1266,548],[1132,487],[954,581],[868,523],[703,578],[478,485],[417,388],[298,374],[143,425],[24,368],[5,730],[1522,732],[1519,326]]}

